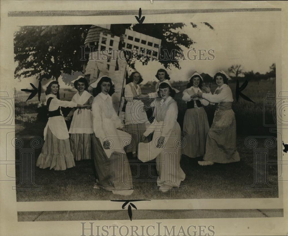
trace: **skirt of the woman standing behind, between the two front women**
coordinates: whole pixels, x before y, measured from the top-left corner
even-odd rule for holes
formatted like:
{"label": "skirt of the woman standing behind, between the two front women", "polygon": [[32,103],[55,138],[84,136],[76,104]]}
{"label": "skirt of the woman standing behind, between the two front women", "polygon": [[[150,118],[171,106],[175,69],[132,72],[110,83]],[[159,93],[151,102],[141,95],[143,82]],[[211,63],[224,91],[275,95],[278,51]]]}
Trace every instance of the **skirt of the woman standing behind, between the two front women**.
{"label": "skirt of the woman standing behind, between the two front women", "polygon": [[127,132],[131,134],[132,143],[126,148],[126,152],[138,152],[139,140],[146,131],[145,124],[126,125]]}

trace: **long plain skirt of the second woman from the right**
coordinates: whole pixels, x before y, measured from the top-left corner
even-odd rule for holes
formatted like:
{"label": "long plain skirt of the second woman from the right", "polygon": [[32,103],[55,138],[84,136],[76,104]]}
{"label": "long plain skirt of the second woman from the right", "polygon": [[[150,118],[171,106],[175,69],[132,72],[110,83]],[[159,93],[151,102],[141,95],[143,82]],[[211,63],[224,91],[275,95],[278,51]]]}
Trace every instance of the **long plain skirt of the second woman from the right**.
{"label": "long plain skirt of the second woman from the right", "polygon": [[183,123],[186,145],[181,150],[182,154],[191,158],[204,156],[208,131],[209,123],[204,108],[195,107],[187,109]]}

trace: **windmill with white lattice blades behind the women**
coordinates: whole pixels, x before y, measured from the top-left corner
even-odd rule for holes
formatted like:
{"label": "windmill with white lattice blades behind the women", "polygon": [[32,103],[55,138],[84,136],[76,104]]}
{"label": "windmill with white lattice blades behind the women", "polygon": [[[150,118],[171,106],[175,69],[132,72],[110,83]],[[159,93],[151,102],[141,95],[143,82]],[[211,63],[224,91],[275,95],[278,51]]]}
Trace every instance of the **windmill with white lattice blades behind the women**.
{"label": "windmill with white lattice blades behind the women", "polygon": [[[112,100],[113,106],[118,112],[123,86],[125,86],[124,80],[127,77],[126,73],[129,74],[130,71],[128,62],[123,60],[126,56],[124,50],[137,50],[138,58],[145,56],[155,59],[158,57],[161,40],[130,29],[125,29],[125,33],[118,37],[112,35],[110,28],[111,25],[94,25],[90,28],[85,44],[86,46],[95,45],[98,50],[92,52],[90,56],[85,68],[85,77],[88,78],[89,83],[93,83],[103,75],[107,75],[113,80],[115,93],[112,95]],[[114,55],[111,49],[114,49]],[[105,50],[105,54],[102,53],[103,50]]]}

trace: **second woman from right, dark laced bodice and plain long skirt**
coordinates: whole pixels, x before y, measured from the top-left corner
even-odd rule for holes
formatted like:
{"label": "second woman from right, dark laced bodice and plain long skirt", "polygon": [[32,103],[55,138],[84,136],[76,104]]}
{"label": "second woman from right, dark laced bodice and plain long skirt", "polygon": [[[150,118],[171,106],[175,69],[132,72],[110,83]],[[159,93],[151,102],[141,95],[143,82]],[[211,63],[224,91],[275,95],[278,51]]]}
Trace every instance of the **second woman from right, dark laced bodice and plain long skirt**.
{"label": "second woman from right, dark laced bodice and plain long skirt", "polygon": [[203,106],[209,105],[209,101],[197,96],[198,91],[202,92],[200,89],[202,82],[202,76],[198,72],[194,72],[182,97],[187,104],[183,122],[186,145],[182,148],[182,154],[190,158],[204,156],[206,135],[209,131],[207,114],[203,108]]}

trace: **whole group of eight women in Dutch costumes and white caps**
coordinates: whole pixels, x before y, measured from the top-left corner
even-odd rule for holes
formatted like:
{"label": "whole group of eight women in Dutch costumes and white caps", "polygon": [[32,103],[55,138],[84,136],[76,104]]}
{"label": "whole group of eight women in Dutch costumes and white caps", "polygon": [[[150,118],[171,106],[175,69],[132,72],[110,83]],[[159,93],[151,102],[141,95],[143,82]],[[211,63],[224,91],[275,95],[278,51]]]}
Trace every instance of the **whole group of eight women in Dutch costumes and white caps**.
{"label": "whole group of eight women in Dutch costumes and white caps", "polygon": [[[87,80],[79,78],[74,83],[78,93],[71,102],[59,100],[59,84],[52,81],[46,90],[49,119],[44,129],[45,142],[36,165],[65,170],[75,166],[74,158],[92,158],[97,175],[94,188],[130,195],[133,183],[129,180],[132,175],[128,152],[142,162],[156,159],[157,186],[162,192],[179,187],[185,179],[180,167],[181,153],[190,158],[203,156],[203,161],[198,162],[200,165],[240,160],[236,151],[236,121],[231,109],[232,92],[223,71],[213,78],[218,85],[214,94],[209,87],[202,87],[203,80],[197,72],[183,91],[182,99],[187,104],[183,125],[185,141],[177,122],[177,102],[173,99],[179,90],[171,86],[166,70],[158,70],[156,78],[156,92],[150,93],[148,99],[152,102],[144,104],[141,98],[145,95],[139,86],[143,79],[139,72],[130,75],[124,93],[124,121],[113,108],[111,78],[102,76],[90,85],[94,87],[94,97],[87,91]],[[217,103],[210,129],[203,108],[209,103]],[[65,118],[61,106],[73,108]],[[149,108],[153,109],[153,122],[146,115]],[[71,119],[72,115],[68,131],[65,119]],[[181,147],[177,142],[186,145]]]}

